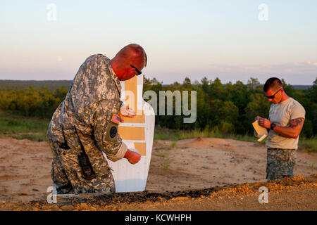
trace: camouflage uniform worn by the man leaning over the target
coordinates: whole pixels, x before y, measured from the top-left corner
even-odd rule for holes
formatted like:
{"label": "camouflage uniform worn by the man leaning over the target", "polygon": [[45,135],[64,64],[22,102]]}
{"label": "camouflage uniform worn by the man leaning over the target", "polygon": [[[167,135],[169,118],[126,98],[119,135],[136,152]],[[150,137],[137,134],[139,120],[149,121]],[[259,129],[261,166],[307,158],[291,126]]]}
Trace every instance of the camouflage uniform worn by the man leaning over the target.
{"label": "camouflage uniform worn by the man leaning over the target", "polygon": [[[102,193],[116,190],[109,160],[116,161],[127,146],[118,135],[118,124],[111,122],[120,110],[120,81],[111,61],[101,54],[89,56],[80,66],[65,100],[49,124],[49,144],[53,153],[51,176],[57,192]],[[80,137],[92,165],[94,179],[86,179],[78,155]]]}

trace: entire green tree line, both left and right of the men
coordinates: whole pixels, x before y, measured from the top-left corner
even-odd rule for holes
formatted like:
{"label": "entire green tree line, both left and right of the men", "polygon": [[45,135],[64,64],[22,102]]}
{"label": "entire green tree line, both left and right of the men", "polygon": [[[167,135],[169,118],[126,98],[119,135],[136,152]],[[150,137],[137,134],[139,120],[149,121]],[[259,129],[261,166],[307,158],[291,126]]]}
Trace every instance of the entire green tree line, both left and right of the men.
{"label": "entire green tree line, both left and right of the men", "polygon": [[[306,120],[302,134],[311,137],[317,131],[317,78],[309,89],[294,89],[282,79],[288,96],[301,103],[306,110]],[[163,85],[154,79],[144,77],[143,91],[197,91],[197,120],[192,124],[183,123],[185,115],[175,115],[175,99],[173,99],[173,115],[157,112],[156,125],[168,129],[200,129],[220,131],[228,134],[253,134],[251,122],[256,115],[268,118],[271,103],[263,94],[263,85],[258,79],[250,78],[247,84],[240,81],[222,84],[220,79],[209,80],[206,77],[200,82],[174,82]],[[35,89],[0,90],[0,109],[24,116],[51,118],[54,110],[66,97],[68,89],[60,87],[54,90],[42,87]],[[146,99],[149,101],[149,99]],[[159,105],[159,103],[157,104]],[[191,107],[189,102],[189,108]],[[165,107],[167,108],[167,107]],[[158,108],[159,110],[159,108]],[[161,114],[161,115],[160,115]],[[164,115],[162,115],[164,114]]]}

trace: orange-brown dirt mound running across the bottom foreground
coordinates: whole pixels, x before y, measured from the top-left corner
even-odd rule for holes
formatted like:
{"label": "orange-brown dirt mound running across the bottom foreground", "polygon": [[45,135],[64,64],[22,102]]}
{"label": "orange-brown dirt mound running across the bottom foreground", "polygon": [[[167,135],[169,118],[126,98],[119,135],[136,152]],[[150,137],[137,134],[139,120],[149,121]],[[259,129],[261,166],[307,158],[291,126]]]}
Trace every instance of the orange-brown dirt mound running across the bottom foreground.
{"label": "orange-brown dirt mound running across the bottom foreground", "polygon": [[[298,201],[302,198],[299,193],[300,191],[309,191],[311,196],[308,196],[309,198],[306,196],[301,201],[302,209],[316,210],[315,200],[314,198],[310,198],[317,195],[316,180],[317,174],[314,174],[313,176],[309,176],[308,179],[299,175],[293,178],[261,184],[246,183],[242,185],[217,186],[201,190],[166,193],[143,191],[139,193],[100,194],[94,197],[86,195],[86,198],[68,198],[67,201],[60,202],[59,204],[48,204],[45,200],[32,201],[30,203],[2,203],[0,210],[210,210],[205,205],[210,206],[211,203],[214,205],[221,203],[227,205],[228,208],[226,210],[232,210],[230,208],[232,206],[230,205],[235,204],[236,207],[239,207],[243,205],[244,201],[248,202],[254,196],[256,197],[260,186],[267,186],[269,189],[268,193],[271,196],[279,194],[279,197],[282,196],[283,201],[292,201],[295,199]],[[285,198],[285,195],[288,193],[293,194],[292,198]],[[252,204],[254,205],[254,203]],[[279,204],[282,204],[281,200],[277,201],[275,210],[279,208]],[[177,205],[176,208],[175,205]],[[268,209],[268,207],[263,207],[259,203],[256,206],[257,208],[260,207],[260,210]],[[297,207],[297,209],[300,209],[300,207]],[[213,208],[213,210],[221,210],[221,208]],[[249,210],[256,210],[256,208],[251,206]]]}

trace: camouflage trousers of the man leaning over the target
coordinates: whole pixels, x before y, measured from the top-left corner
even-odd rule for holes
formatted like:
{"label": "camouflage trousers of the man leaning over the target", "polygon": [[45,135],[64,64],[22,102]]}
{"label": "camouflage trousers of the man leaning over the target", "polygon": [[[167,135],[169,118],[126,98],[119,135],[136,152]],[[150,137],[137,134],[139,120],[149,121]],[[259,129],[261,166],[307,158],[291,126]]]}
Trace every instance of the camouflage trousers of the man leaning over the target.
{"label": "camouflage trousers of the man leaning over the target", "polygon": [[78,153],[75,150],[60,148],[50,136],[49,145],[53,153],[51,178],[57,194],[111,193],[116,191],[111,169],[106,162],[105,165],[95,169],[96,178],[87,180],[78,165]]}

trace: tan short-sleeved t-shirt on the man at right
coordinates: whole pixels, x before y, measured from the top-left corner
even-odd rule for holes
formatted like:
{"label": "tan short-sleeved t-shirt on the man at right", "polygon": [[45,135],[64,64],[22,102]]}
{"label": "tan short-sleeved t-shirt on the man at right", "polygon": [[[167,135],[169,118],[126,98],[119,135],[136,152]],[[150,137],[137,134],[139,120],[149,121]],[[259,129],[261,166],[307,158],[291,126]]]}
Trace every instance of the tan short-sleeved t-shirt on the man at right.
{"label": "tan short-sleeved t-shirt on the man at right", "polygon": [[[304,107],[294,98],[287,98],[278,104],[272,104],[270,108],[270,115],[268,120],[281,126],[290,127],[290,121],[297,118],[305,118]],[[266,148],[283,148],[283,149],[297,149],[298,140],[287,138],[270,130],[268,133],[268,140],[266,140]]]}

